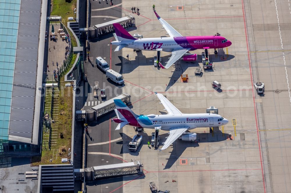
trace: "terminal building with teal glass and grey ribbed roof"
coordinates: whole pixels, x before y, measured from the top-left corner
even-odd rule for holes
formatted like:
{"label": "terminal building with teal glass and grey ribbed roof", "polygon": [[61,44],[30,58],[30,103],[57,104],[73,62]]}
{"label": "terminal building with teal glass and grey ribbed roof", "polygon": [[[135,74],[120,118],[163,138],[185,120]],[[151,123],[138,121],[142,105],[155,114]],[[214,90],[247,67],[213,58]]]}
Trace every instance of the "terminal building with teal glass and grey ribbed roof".
{"label": "terminal building with teal glass and grey ribbed roof", "polygon": [[0,2],[0,157],[40,154],[47,2]]}

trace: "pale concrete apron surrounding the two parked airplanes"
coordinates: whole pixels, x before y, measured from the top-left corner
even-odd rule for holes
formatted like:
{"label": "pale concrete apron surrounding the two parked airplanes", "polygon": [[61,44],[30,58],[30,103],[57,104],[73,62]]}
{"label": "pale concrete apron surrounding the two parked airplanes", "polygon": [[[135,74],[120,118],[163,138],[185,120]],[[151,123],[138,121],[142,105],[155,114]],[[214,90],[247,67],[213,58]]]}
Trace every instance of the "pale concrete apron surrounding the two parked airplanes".
{"label": "pale concrete apron surrounding the two parked airplanes", "polygon": [[[215,106],[230,122],[214,132],[214,136],[208,128],[190,130],[199,134],[200,141],[177,140],[163,151],[148,148],[146,142],[153,130],[144,129],[145,140],[137,152],[127,149],[126,144],[135,132],[131,126],[125,126],[119,132],[123,154],[118,158],[141,161],[144,175],[125,176],[122,185],[110,191],[150,192],[149,182],[154,181],[159,190],[171,192],[291,192],[290,4],[287,1],[123,0],[123,16],[131,12],[132,6],[140,9],[139,16],[132,14],[137,28],[130,34],[167,36],[152,12],[153,3],[160,17],[182,35],[219,32],[232,45],[226,60],[222,59],[223,50],[218,57],[214,50],[209,50],[215,66],[213,71],[203,71],[201,77],[194,72],[201,66],[203,50],[191,52],[198,54],[198,61],[181,61],[181,69],[174,66],[159,69],[153,65],[156,52],[123,48],[122,90],[132,96],[132,110],[145,115],[166,113],[154,94],[159,92],[183,113],[204,113],[206,108]],[[112,55],[114,49],[112,46]],[[169,54],[162,52],[163,63]],[[181,74],[188,74],[186,83],[181,81]],[[221,91],[212,88],[213,80],[222,84]],[[255,92],[254,81],[265,82],[264,95]],[[110,131],[115,126],[111,124]],[[232,139],[226,139],[228,134]],[[162,143],[167,134],[161,131],[160,136]]]}

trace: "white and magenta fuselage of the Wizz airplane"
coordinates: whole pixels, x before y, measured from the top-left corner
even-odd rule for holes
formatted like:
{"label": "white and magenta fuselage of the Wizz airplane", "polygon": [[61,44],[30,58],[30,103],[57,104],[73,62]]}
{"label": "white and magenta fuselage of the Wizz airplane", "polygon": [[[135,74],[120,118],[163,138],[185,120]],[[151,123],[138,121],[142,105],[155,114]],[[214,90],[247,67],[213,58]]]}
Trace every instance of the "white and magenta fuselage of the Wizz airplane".
{"label": "white and magenta fuselage of the Wizz airplane", "polygon": [[[142,38],[136,40],[126,40],[122,43],[128,44],[127,48],[136,50],[155,51],[162,48],[162,51],[172,52],[180,49],[215,49],[225,48],[231,45],[231,42],[222,36],[186,36],[186,37],[160,37],[160,38]],[[113,41],[113,45],[120,45],[119,41]]]}

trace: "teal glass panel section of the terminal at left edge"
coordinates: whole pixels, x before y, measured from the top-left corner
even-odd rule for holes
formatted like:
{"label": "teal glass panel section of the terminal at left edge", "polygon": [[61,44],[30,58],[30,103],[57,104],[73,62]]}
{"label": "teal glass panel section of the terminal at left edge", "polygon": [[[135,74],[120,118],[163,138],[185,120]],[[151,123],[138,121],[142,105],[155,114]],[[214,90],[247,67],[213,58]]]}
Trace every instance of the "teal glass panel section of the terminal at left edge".
{"label": "teal glass panel section of the terminal at left edge", "polygon": [[[0,0],[0,140],[8,140],[20,0]],[[3,146],[0,145],[0,152]]]}

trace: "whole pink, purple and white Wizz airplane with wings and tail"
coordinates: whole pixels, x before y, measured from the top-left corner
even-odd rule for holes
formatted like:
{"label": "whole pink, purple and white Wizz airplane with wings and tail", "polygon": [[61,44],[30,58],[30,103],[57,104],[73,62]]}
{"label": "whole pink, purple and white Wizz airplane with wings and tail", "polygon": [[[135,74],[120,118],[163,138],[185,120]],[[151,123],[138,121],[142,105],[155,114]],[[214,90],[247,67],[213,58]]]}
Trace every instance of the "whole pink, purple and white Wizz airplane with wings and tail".
{"label": "whole pink, purple and white Wizz airplane with wings and tail", "polygon": [[195,61],[197,54],[187,54],[184,56],[188,51],[226,48],[231,45],[231,42],[222,36],[182,36],[164,19],[159,17],[157,12],[155,14],[170,37],[136,39],[119,23],[113,23],[116,32],[113,35],[116,41],[111,42],[111,44],[118,45],[114,51],[119,51],[124,47],[148,51],[156,51],[157,48],[162,48],[162,51],[172,52],[172,56],[164,66],[164,68],[170,68],[180,58],[186,61]]}

